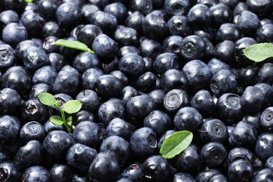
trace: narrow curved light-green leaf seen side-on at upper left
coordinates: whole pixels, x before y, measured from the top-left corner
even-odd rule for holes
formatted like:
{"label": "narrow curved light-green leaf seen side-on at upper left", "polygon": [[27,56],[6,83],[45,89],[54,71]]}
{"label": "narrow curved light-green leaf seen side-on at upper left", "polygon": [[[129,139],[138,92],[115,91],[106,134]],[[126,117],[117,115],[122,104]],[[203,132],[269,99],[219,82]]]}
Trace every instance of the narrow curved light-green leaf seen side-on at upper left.
{"label": "narrow curved light-green leaf seen side-on at upper left", "polygon": [[92,52],[94,54],[94,51],[88,48],[87,45],[85,45],[85,43],[81,43],[80,41],[69,41],[69,40],[59,39],[54,44],[61,45],[66,48],[73,48],[77,50],[83,50],[85,52]]}

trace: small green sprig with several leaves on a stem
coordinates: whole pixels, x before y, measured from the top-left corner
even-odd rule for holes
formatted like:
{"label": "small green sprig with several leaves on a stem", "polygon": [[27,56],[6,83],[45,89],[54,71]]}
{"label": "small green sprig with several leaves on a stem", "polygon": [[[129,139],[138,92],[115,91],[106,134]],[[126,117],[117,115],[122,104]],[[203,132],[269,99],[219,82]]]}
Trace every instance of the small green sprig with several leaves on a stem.
{"label": "small green sprig with several leaves on a stem", "polygon": [[70,100],[68,102],[66,102],[63,106],[63,108],[61,108],[61,106],[59,106],[59,102],[55,99],[55,97],[47,92],[41,93],[38,96],[39,101],[46,105],[46,106],[56,106],[57,109],[59,109],[59,112],[61,113],[61,116],[50,116],[50,122],[53,123],[54,125],[64,125],[64,127],[66,127],[66,130],[68,132],[71,132],[75,126],[72,125],[73,122],[73,118],[72,116],[69,116],[68,118],[65,118],[64,113],[77,113],[78,111],[80,111],[81,108],[81,103],[77,100]]}

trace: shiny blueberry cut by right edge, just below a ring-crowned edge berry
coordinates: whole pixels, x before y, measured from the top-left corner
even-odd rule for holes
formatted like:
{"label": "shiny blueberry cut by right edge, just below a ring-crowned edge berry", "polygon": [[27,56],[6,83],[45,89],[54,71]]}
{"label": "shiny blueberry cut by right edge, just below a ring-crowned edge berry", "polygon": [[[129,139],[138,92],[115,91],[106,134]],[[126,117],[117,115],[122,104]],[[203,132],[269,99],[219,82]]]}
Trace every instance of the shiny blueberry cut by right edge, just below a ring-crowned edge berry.
{"label": "shiny blueberry cut by right edge, just below a ring-crowned edge berry", "polygon": [[267,160],[271,157],[273,148],[273,134],[271,132],[263,132],[259,135],[255,144],[255,154],[261,160]]}

